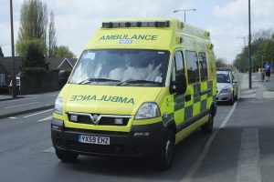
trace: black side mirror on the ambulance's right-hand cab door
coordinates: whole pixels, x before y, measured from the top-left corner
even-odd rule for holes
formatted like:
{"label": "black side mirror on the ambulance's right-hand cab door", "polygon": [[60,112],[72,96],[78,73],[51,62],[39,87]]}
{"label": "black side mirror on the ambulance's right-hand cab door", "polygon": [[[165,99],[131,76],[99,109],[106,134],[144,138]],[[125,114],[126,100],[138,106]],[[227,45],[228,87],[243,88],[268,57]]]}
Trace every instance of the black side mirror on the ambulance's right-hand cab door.
{"label": "black side mirror on the ambulance's right-hand cab door", "polygon": [[176,81],[172,81],[170,85],[171,94],[184,94],[186,91],[186,77],[184,73],[176,74]]}

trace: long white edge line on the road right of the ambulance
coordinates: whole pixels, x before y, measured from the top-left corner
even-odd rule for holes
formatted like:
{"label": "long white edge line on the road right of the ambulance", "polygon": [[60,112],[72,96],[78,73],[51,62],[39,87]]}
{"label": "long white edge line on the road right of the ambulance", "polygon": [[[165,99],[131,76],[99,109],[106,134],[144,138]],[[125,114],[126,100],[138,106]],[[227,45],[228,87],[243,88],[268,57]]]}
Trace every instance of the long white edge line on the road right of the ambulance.
{"label": "long white edge line on the road right of the ambulance", "polygon": [[194,177],[196,171],[198,170],[198,168],[201,166],[205,156],[207,155],[213,140],[216,137],[216,134],[219,132],[220,128],[223,128],[227,125],[227,122],[230,118],[230,116],[232,116],[235,108],[237,106],[237,102],[234,103],[234,105],[232,106],[230,112],[227,114],[225,120],[223,121],[223,123],[220,125],[219,128],[216,129],[216,131],[214,131],[214,133],[210,136],[210,138],[207,140],[205,147],[202,151],[202,153],[200,154],[200,156],[198,157],[198,159],[195,161],[195,164],[188,170],[188,172],[186,173],[186,175],[183,177],[183,179],[181,180],[182,182],[190,182],[192,180],[192,178]]}

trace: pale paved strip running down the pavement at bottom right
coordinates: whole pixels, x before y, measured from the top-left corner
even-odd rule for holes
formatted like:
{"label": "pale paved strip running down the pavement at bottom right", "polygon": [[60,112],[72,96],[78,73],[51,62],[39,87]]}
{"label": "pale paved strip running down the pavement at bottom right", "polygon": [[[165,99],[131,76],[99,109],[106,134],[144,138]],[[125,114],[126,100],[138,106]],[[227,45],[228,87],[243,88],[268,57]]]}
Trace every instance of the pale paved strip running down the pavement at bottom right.
{"label": "pale paved strip running down the pavement at bottom right", "polygon": [[260,182],[258,128],[244,129],[237,160],[237,182]]}

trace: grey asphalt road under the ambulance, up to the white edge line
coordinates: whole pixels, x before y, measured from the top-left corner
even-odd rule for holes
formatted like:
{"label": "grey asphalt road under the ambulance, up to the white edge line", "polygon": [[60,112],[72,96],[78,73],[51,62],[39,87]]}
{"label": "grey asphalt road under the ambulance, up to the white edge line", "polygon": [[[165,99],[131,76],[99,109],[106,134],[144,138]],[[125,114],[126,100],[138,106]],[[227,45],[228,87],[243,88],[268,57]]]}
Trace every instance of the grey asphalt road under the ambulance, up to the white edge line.
{"label": "grey asphalt road under the ambulance, up to the white edge line", "polygon": [[[219,106],[215,130],[232,106]],[[0,119],[0,181],[181,181],[210,135],[197,130],[175,148],[174,166],[157,171],[145,161],[79,157],[64,164],[52,150],[52,110]]]}

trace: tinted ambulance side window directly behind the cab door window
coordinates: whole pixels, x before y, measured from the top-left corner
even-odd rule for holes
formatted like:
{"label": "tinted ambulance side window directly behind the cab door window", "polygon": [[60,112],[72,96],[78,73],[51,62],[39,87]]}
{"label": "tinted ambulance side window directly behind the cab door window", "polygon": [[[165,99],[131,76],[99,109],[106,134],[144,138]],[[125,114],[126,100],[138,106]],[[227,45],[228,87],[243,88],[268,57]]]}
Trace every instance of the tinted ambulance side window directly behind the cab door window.
{"label": "tinted ambulance side window directly behind the cab door window", "polygon": [[185,51],[188,83],[199,82],[198,56],[195,51]]}

